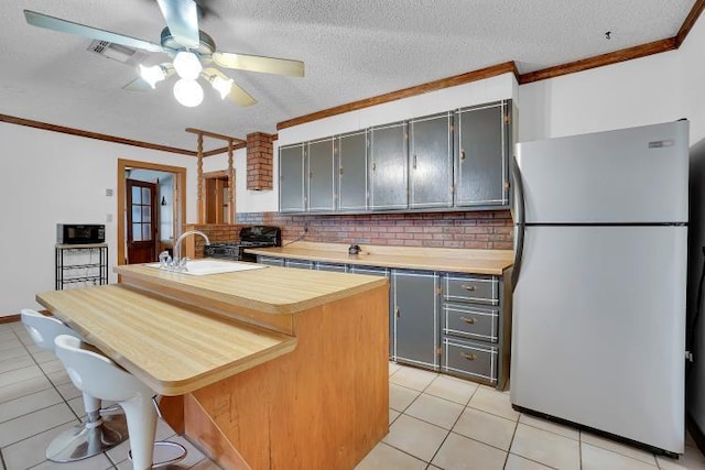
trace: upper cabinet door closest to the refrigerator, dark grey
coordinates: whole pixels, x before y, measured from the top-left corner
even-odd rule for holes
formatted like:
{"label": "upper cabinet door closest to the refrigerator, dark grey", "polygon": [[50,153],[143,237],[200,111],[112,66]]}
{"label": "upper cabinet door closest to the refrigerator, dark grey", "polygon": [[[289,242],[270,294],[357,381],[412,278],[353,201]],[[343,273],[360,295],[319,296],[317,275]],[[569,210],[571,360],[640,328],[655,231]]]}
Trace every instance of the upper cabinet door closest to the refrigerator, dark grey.
{"label": "upper cabinet door closest to the refrigerator, dark grey", "polygon": [[509,204],[507,102],[456,112],[456,206]]}

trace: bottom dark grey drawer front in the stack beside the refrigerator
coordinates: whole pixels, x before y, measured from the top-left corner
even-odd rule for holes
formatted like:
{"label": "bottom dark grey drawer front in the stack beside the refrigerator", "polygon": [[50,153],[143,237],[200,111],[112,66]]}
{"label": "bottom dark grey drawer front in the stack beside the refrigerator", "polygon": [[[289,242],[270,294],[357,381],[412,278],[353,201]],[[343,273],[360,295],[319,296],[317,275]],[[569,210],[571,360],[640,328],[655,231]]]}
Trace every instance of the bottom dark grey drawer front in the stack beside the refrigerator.
{"label": "bottom dark grey drawer front in the stack beside the refrigerator", "polygon": [[498,357],[498,348],[495,346],[443,339],[444,372],[469,375],[496,384]]}

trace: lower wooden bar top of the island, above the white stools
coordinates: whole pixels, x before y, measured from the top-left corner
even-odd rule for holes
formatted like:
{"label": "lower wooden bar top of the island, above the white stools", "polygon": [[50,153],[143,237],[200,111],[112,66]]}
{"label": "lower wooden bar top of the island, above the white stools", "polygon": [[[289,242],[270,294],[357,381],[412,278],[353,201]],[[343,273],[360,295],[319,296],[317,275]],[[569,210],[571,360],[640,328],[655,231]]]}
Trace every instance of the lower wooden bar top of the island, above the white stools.
{"label": "lower wooden bar top of the island, above the white stools", "polygon": [[119,284],[44,292],[36,299],[163,395],[195,391],[296,347],[294,337]]}

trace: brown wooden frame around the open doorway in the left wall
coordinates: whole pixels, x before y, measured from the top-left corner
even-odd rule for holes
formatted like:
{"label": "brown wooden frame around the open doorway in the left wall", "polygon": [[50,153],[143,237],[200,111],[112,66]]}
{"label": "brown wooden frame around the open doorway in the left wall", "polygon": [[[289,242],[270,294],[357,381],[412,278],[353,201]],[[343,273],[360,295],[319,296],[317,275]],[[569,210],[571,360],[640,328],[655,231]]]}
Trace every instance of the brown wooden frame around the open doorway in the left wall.
{"label": "brown wooden frame around the open doorway in the left wall", "polygon": [[118,159],[118,259],[117,264],[124,264],[126,240],[126,176],[128,168],[153,170],[156,172],[172,173],[174,175],[174,237],[181,234],[186,218],[186,168],[182,166],[162,165],[160,163],[140,162],[137,160]]}

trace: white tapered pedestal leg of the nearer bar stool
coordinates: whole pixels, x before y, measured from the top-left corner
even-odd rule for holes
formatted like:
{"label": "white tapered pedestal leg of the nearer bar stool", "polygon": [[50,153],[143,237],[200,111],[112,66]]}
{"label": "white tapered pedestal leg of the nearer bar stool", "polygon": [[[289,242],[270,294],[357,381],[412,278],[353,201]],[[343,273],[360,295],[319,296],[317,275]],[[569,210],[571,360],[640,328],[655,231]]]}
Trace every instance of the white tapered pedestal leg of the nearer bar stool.
{"label": "white tapered pedestal leg of the nearer bar stool", "polygon": [[128,419],[130,433],[130,450],[134,470],[152,468],[154,456],[154,434],[156,433],[156,411],[151,396],[135,396],[121,402]]}

